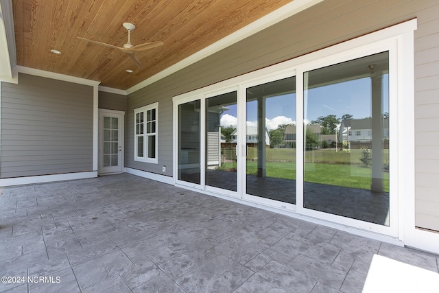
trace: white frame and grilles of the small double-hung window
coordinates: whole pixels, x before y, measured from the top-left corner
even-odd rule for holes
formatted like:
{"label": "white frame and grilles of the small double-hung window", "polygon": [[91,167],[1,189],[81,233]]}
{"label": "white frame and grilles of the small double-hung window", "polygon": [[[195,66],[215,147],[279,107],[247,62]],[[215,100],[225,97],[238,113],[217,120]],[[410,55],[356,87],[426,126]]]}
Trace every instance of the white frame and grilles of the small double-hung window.
{"label": "white frame and grilles of the small double-hung window", "polygon": [[[156,123],[155,132],[147,133],[147,122],[146,121],[146,113],[148,110],[155,110],[156,111],[156,119],[154,120]],[[143,133],[137,134],[137,114],[143,113]],[[138,149],[137,149],[137,137],[143,136],[143,156],[137,156]],[[148,157],[148,145],[147,145],[147,138],[148,137],[156,137],[155,141],[155,157],[150,158]],[[134,161],[137,162],[143,162],[143,163],[152,163],[152,164],[158,164],[158,102],[155,102],[153,104],[149,104],[146,106],[143,106],[141,108],[134,109]]]}

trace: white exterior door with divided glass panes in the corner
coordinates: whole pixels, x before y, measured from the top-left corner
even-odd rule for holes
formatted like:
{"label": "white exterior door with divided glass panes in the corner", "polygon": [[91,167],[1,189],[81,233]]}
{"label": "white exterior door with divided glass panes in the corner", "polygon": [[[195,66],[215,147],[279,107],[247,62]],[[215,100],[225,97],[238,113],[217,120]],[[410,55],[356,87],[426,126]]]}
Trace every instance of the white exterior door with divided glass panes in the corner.
{"label": "white exterior door with divided glass panes in the corner", "polygon": [[121,111],[99,109],[99,174],[122,172],[123,117]]}

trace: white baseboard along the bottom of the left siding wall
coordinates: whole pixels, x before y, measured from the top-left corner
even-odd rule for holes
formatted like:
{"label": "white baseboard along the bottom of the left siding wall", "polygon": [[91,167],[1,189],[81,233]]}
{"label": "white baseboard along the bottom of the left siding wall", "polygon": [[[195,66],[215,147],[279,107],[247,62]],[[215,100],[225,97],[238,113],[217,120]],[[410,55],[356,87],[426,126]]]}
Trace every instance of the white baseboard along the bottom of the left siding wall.
{"label": "white baseboard along the bottom of the left siding wall", "polygon": [[49,183],[55,181],[75,180],[75,179],[85,179],[85,178],[95,178],[95,177],[97,177],[96,171],[41,175],[41,176],[27,176],[27,177],[16,177],[16,178],[3,178],[0,179],[0,187],[27,185],[27,184],[36,184],[36,183]]}

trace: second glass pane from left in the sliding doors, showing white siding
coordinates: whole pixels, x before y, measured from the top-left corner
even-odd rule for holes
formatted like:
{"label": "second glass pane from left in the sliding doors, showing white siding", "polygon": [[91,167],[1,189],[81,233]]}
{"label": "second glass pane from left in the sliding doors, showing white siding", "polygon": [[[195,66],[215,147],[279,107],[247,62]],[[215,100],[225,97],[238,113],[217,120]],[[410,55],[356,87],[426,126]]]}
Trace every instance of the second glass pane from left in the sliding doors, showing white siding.
{"label": "second glass pane from left in the sliding doors, showing white siding", "polygon": [[206,185],[237,190],[237,93],[206,99]]}

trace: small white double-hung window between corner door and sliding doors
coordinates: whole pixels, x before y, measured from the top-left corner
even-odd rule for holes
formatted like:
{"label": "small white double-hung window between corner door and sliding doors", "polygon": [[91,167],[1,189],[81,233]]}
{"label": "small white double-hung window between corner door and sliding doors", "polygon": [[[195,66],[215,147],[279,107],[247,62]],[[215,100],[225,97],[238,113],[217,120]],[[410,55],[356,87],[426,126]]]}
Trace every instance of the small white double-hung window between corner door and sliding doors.
{"label": "small white double-hung window between corner door and sliding doors", "polygon": [[157,161],[158,102],[134,110],[134,161]]}

